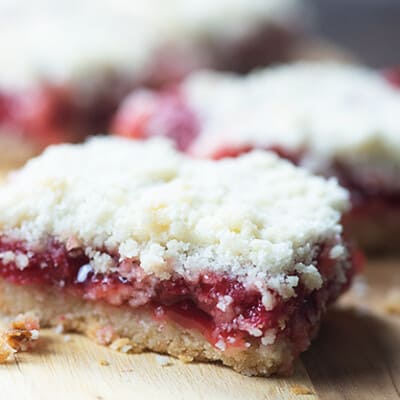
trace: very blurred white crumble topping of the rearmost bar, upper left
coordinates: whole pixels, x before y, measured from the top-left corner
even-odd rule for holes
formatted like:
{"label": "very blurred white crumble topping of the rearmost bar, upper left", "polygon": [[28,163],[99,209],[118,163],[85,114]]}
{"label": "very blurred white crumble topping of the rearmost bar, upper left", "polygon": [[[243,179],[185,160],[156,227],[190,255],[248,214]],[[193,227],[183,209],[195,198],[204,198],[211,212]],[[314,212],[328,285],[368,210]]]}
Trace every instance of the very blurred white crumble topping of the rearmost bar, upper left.
{"label": "very blurred white crumble topping of the rearmost bar, upper left", "polygon": [[160,49],[176,47],[188,58],[201,57],[192,54],[196,44],[240,39],[270,24],[290,26],[301,4],[302,0],[174,0],[168,4],[163,0],[3,0],[0,85],[25,88],[45,80],[92,87],[96,79],[116,71],[140,78]]}

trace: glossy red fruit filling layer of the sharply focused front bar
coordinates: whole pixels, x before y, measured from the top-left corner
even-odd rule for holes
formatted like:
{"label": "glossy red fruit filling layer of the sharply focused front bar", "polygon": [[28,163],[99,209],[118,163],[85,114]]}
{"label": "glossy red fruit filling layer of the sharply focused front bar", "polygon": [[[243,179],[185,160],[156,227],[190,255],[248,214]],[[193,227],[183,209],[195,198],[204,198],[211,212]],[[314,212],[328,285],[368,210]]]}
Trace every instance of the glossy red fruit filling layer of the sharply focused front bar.
{"label": "glossy red fruit filling layer of the sharply focused front bar", "polygon": [[269,344],[285,336],[297,353],[308,346],[320,313],[353,274],[352,268],[345,268],[345,281],[338,279],[330,248],[319,250],[315,261],[323,287],[310,292],[300,284],[296,296],[287,301],[271,291],[272,310],[266,310],[257,289],[226,275],[205,270],[193,281],[178,275],[160,280],[144,274],[136,261],[118,263],[118,257],[113,257],[116,272],[104,275],[93,271],[82,249],[67,251],[55,241],[49,241],[44,251],[32,252],[24,242],[0,239],[0,276],[15,285],[53,287],[88,301],[150,309],[155,320],[172,320],[194,329],[220,350],[260,341]]}

